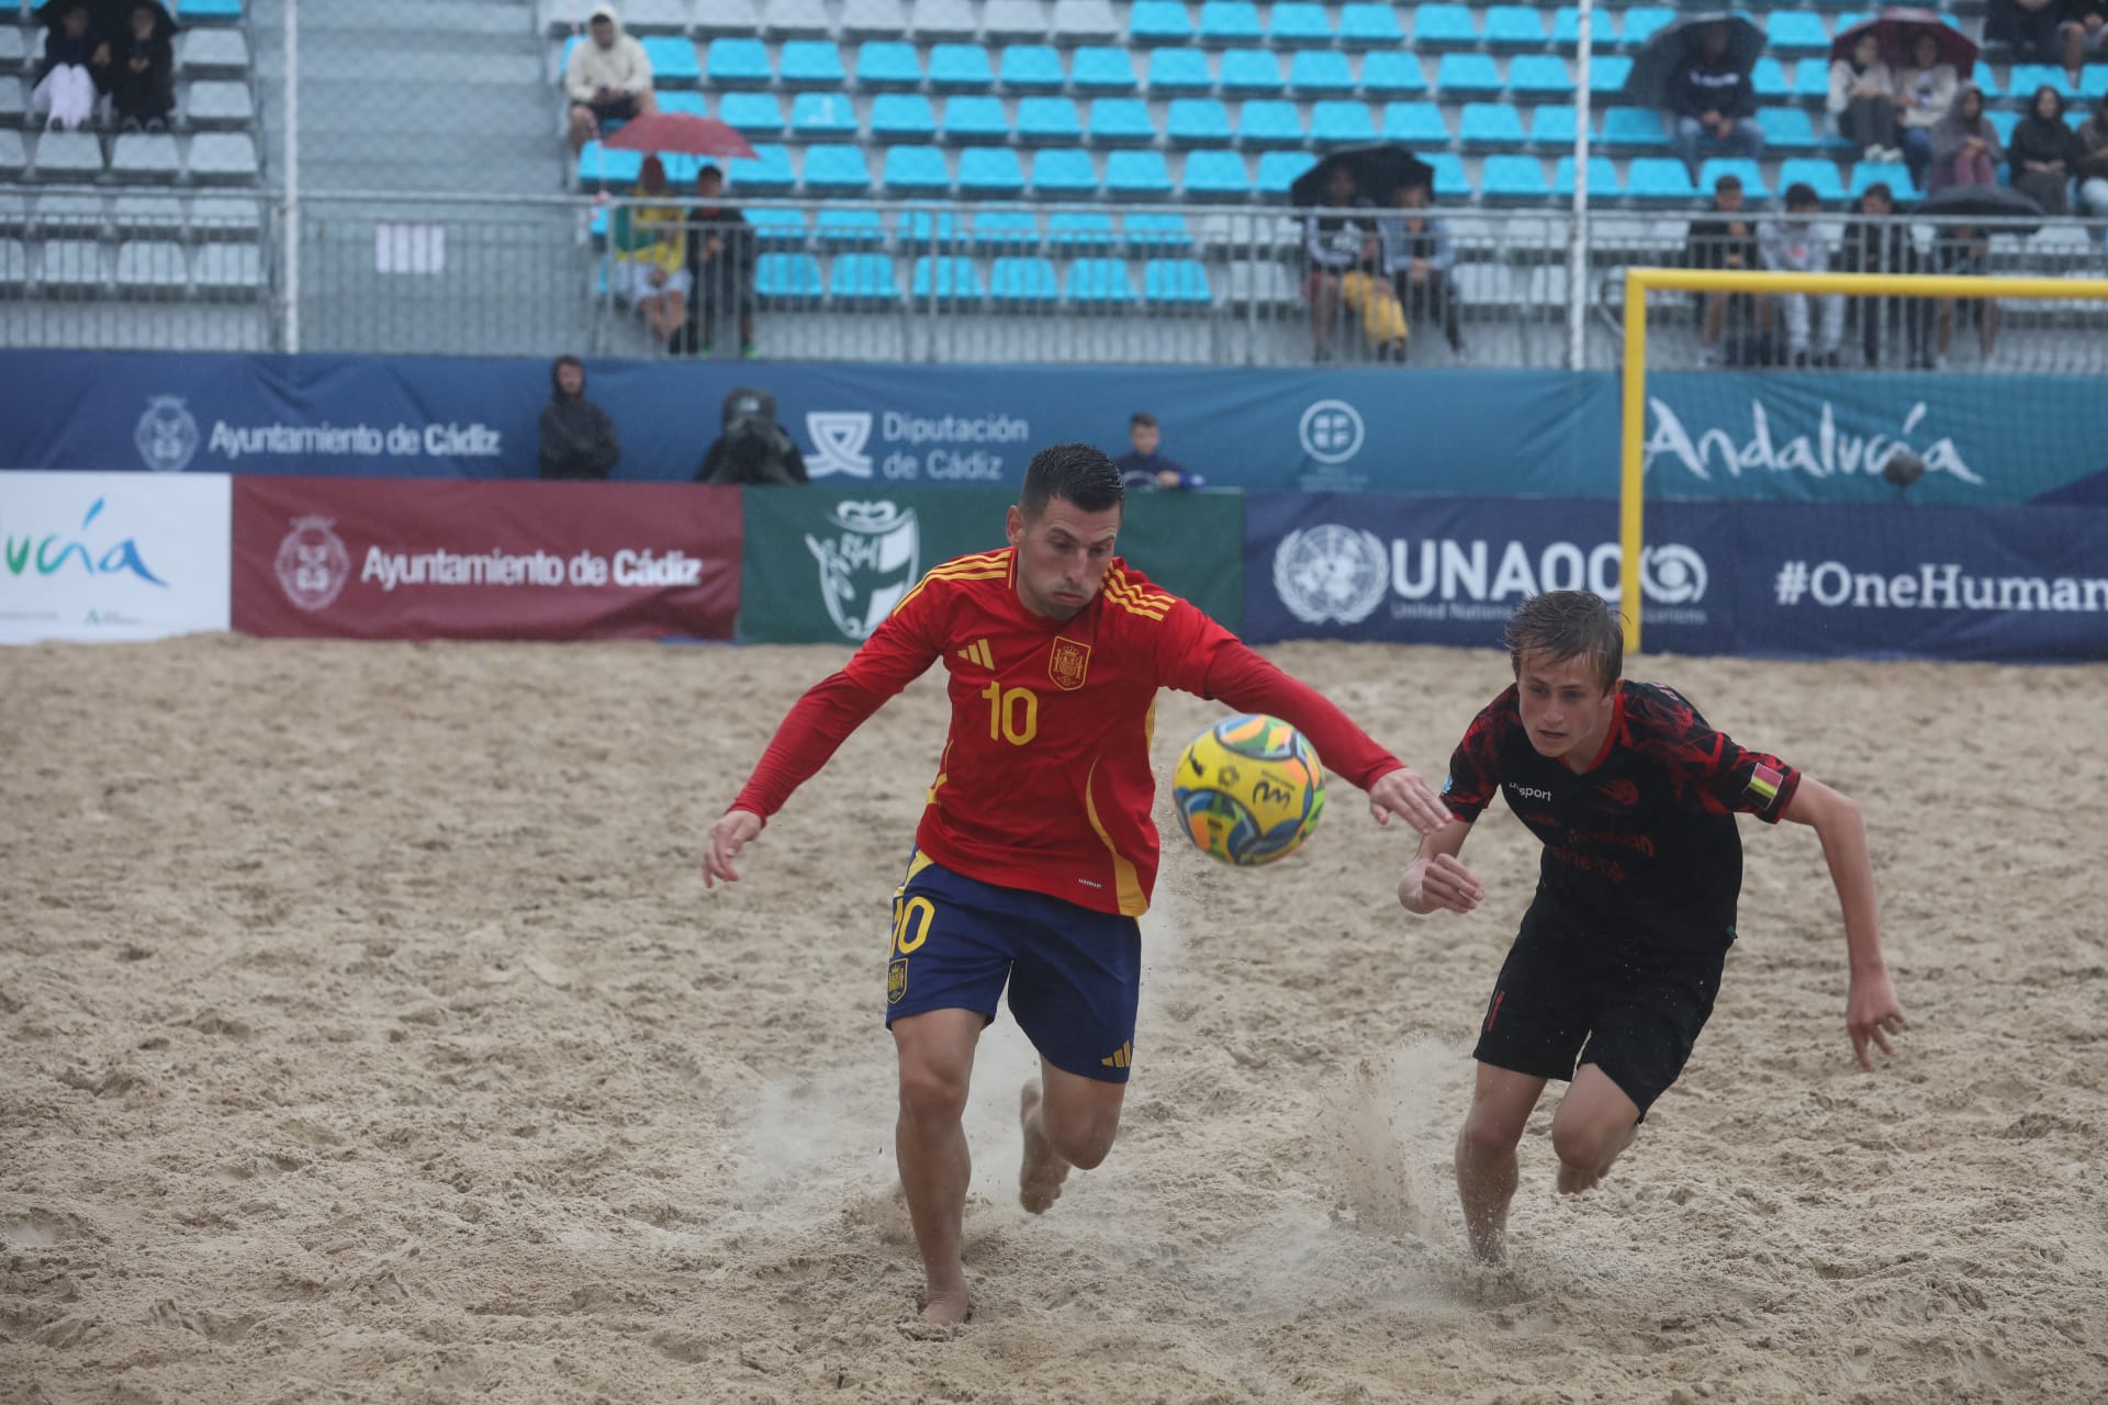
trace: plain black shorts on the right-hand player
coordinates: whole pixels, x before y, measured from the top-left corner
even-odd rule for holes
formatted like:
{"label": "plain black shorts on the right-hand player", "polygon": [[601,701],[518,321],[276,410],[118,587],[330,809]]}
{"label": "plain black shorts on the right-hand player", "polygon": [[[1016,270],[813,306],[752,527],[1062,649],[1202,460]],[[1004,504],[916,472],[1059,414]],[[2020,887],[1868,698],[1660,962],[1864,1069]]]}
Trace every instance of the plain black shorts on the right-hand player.
{"label": "plain black shorts on the right-hand player", "polygon": [[1720,994],[1726,950],[1619,948],[1539,893],[1495,982],[1471,1057],[1533,1079],[1596,1064],[1646,1110],[1670,1091]]}

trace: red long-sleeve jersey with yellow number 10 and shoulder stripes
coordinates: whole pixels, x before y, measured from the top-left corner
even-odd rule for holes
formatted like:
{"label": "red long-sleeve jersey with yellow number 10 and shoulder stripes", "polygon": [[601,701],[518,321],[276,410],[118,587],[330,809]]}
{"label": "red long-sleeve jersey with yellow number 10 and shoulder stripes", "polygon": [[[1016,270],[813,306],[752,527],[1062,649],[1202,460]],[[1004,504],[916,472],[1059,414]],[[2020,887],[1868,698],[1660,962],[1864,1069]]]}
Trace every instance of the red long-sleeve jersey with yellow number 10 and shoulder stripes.
{"label": "red long-sleeve jersey with yellow number 10 and shoulder stripes", "polygon": [[763,819],[887,697],[942,659],[951,735],[915,832],[932,859],[982,883],[1136,916],[1157,876],[1149,739],[1159,687],[1269,712],[1364,790],[1398,758],[1347,714],[1199,609],[1113,560],[1071,619],[1018,598],[1016,550],[944,562],[807,691],[731,809]]}

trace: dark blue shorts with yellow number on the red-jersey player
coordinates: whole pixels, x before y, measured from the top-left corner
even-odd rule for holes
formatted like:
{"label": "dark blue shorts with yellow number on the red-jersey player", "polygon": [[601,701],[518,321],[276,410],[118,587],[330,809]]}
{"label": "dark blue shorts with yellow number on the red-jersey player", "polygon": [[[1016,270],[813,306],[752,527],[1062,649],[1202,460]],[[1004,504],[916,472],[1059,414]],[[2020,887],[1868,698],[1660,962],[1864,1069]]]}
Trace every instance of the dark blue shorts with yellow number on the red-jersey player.
{"label": "dark blue shorts with yellow number on the red-jersey player", "polygon": [[970,1009],[995,1024],[1003,982],[1010,1015],[1048,1064],[1128,1081],[1143,988],[1136,921],[978,883],[917,853],[894,893],[885,1026],[932,1009]]}

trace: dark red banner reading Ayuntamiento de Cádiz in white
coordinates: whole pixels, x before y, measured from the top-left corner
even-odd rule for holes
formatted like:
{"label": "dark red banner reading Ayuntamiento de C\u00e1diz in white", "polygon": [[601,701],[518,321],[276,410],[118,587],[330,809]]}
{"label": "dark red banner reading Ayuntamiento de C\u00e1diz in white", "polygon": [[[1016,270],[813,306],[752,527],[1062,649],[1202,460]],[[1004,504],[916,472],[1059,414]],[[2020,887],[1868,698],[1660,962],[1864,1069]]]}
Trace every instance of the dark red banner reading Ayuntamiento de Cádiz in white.
{"label": "dark red banner reading Ayuntamiento de C\u00e1diz in white", "polygon": [[740,491],[234,480],[234,628],[280,638],[731,638]]}

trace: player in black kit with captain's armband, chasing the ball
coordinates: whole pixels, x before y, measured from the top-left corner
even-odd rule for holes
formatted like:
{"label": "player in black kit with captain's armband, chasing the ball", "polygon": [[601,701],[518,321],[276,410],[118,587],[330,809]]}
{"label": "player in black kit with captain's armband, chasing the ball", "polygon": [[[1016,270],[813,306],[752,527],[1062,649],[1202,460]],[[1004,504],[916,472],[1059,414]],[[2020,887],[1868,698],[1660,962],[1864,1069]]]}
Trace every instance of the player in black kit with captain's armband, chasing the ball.
{"label": "player in black kit with captain's armband, chasing the ball", "polygon": [[1859,1064],[1904,1028],[1880,958],[1866,826],[1851,798],[1705,725],[1676,689],[1619,678],[1623,636],[1598,596],[1526,600],[1507,630],[1516,687],[1471,720],[1444,788],[1452,824],[1427,834],[1398,883],[1412,912],[1484,897],[1457,853],[1492,796],[1545,845],[1537,897],[1480,1026],[1478,1087],[1457,1140],[1473,1251],[1505,1253],[1516,1144],[1545,1083],[1570,1079],[1551,1119],[1558,1186],[1594,1186],[1684,1068],[1735,939],[1735,813],[1811,826],[1844,910]]}

